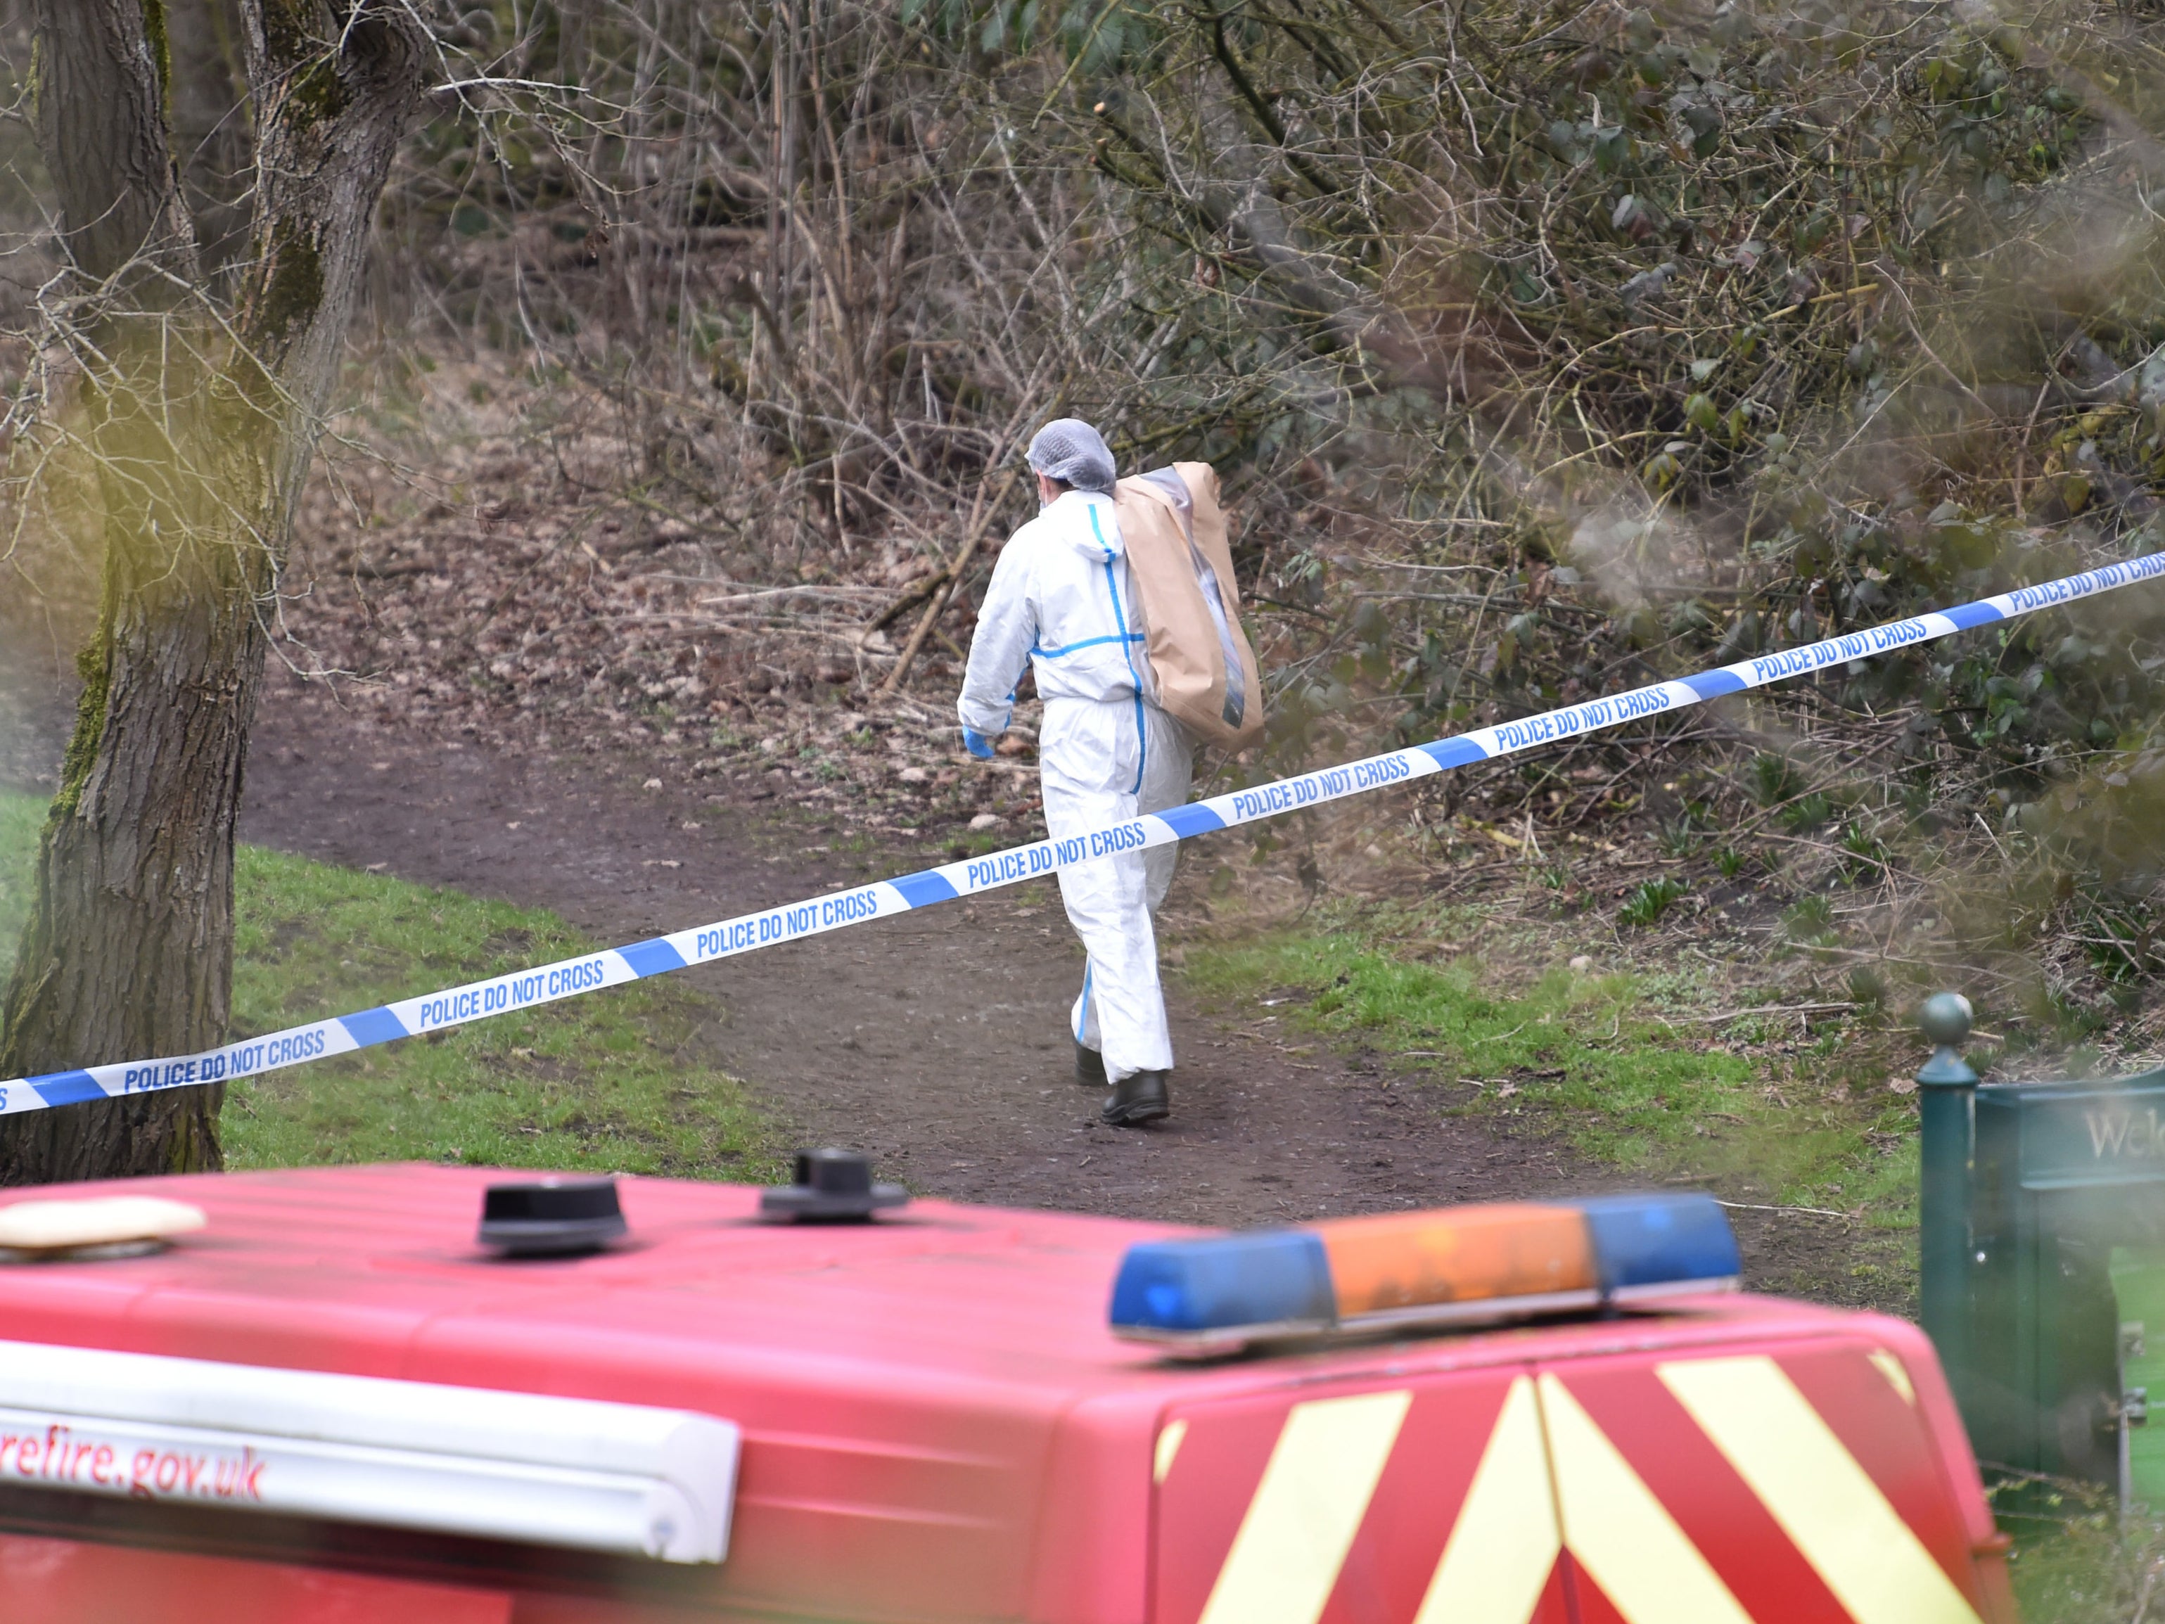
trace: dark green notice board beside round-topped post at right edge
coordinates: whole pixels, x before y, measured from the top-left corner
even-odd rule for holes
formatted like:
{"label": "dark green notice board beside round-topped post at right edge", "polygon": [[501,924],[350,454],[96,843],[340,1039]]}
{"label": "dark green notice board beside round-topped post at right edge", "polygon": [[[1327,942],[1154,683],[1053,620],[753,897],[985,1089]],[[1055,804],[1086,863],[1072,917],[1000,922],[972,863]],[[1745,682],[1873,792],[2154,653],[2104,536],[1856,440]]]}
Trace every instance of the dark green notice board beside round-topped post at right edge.
{"label": "dark green notice board beside round-topped post at right edge", "polygon": [[1979,1087],[1966,1206],[1948,1377],[1979,1462],[2165,1509],[2165,1070]]}

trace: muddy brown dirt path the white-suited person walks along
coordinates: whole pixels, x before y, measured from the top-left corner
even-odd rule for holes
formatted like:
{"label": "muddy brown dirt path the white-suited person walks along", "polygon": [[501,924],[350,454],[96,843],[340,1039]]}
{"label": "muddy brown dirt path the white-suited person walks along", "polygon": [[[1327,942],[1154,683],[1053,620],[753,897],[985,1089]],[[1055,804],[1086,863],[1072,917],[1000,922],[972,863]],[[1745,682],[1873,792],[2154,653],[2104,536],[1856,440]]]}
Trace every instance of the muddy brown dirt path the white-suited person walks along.
{"label": "muddy brown dirt path the white-suited person walks along", "polygon": [[[816,847],[747,840],[745,814],[589,767],[357,730],[281,695],[242,834],[403,879],[546,905],[606,942],[853,883]],[[773,847],[769,855],[760,844]],[[898,868],[888,862],[879,873]],[[1011,892],[684,972],[723,1011],[721,1063],[823,1143],[914,1189],[985,1202],[1254,1223],[1602,1182],[1418,1091],[1225,1031],[1173,1000],[1173,1119],[1113,1130],[1070,1076],[1080,953],[1057,903]],[[1256,1011],[1251,1026],[1267,1033]]]}

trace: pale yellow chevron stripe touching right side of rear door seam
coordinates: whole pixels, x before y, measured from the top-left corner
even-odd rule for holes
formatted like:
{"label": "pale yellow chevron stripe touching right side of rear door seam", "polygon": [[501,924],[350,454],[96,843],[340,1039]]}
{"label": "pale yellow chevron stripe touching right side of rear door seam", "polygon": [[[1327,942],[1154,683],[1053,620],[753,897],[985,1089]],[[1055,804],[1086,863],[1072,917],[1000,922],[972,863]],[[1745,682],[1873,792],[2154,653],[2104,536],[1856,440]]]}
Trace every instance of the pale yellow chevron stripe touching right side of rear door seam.
{"label": "pale yellow chevron stripe touching right side of rear door seam", "polygon": [[1541,1377],[1563,1544],[1626,1624],[1751,1624],[1654,1490],[1557,1377]]}

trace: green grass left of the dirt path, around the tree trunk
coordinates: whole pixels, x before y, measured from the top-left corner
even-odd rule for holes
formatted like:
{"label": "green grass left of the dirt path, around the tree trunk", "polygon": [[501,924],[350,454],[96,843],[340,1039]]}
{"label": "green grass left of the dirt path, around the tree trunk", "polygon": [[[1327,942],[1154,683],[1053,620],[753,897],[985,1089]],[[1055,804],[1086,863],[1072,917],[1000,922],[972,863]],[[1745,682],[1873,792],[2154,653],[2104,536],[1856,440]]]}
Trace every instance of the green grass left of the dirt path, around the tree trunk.
{"label": "green grass left of the dirt path, around the tree trunk", "polygon": [[[0,797],[0,955],[30,905],[43,806]],[[342,1016],[591,948],[554,914],[242,847],[234,1033]],[[704,1055],[704,1005],[639,983],[234,1083],[229,1167],[463,1161],[777,1176],[775,1128]]]}

